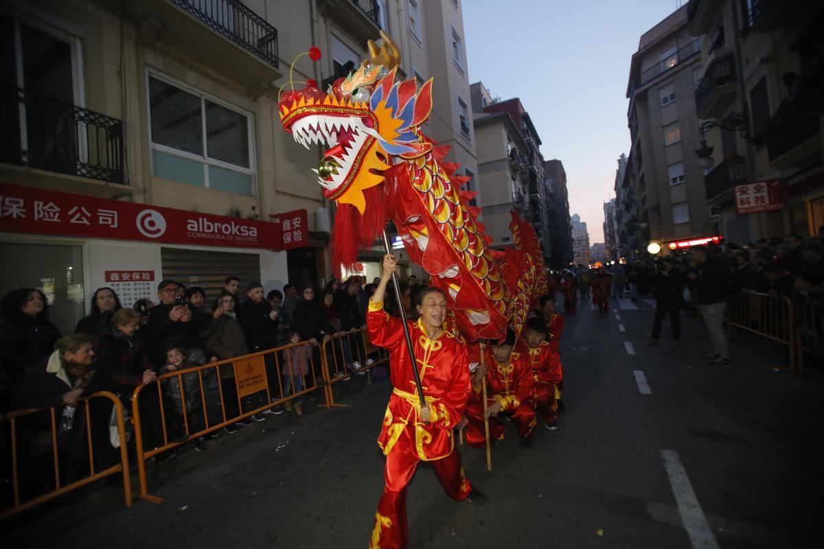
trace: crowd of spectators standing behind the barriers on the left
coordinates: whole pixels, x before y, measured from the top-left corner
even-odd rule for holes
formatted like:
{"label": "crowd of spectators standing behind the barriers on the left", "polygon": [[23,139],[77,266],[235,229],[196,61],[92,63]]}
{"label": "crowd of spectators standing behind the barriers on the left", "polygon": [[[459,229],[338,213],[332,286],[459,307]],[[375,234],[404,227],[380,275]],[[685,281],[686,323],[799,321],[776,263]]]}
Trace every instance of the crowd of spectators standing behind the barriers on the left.
{"label": "crowd of spectators standing behind the barriers on the left", "polygon": [[[402,287],[408,297],[420,285],[411,277]],[[134,389],[142,386],[138,404],[143,448],[160,447],[165,440],[188,440],[194,449],[204,451],[207,440],[190,434],[204,429],[206,417],[211,425],[222,422],[222,413],[232,419],[264,407],[268,404],[263,402],[265,392],[243,398],[239,406],[231,364],[157,384],[159,376],[299,342],[311,345],[265,355],[273,401],[281,398],[281,391],[285,397],[321,381],[325,345],[342,368],[358,373],[357,357],[366,356],[363,337],[350,331],[365,325],[365,304],[372,291],[373,285],[358,276],[333,279],[320,293],[311,286],[298,292],[292,284],[283,286],[282,292],[266,293],[260,282],[241,286],[238,277],[227,277],[220,294],[208,300],[199,286],[187,288],[167,279],[158,284],[156,301],[138,300],[128,307],[112,288],[102,287],[91,296],[90,314],[77,322],[74,333],[63,335],[49,321],[49,303],[43,292],[17,289],[2,302],[0,414],[56,407],[56,414],[65,417],[73,414],[79,398],[103,389],[117,394],[129,411]],[[394,300],[387,300],[387,308],[398,309]],[[337,375],[344,374],[338,371]],[[218,388],[222,399],[209,399]],[[217,402],[217,412],[207,409],[204,416],[204,401]],[[286,408],[302,415],[302,399]],[[96,412],[101,425],[90,429],[99,430],[93,435],[108,440],[110,407]],[[269,407],[264,413],[279,414],[283,409]],[[69,477],[79,463],[87,463],[84,421],[84,414],[77,413],[68,420],[68,428],[61,427],[67,435],[60,437],[60,447],[71,456],[65,460]],[[251,421],[265,421],[265,416],[252,415],[224,431],[234,433],[237,426],[249,426]],[[23,454],[28,453],[32,463],[47,457],[51,451],[48,422],[29,422],[21,428],[33,435],[30,447],[21,449]],[[219,432],[213,431],[211,437]],[[165,461],[174,454],[173,450],[157,454],[156,460]]]}

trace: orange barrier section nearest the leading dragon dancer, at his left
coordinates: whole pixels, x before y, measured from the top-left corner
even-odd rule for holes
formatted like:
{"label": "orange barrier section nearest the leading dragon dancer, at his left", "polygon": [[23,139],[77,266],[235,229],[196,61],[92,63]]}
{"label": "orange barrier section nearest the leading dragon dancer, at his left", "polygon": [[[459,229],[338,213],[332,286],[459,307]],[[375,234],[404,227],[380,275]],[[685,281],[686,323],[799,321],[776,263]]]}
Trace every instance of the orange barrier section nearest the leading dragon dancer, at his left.
{"label": "orange barrier section nearest the leading dragon dancer, at his left", "polygon": [[[346,356],[346,347],[349,347],[349,361]],[[353,362],[360,364],[357,371],[361,372],[370,370],[380,364],[386,364],[388,361],[389,352],[369,341],[366,328],[349,330],[349,332],[332,336],[330,341],[323,346],[323,364],[329,381],[326,388],[326,398],[330,402],[330,406],[341,406],[335,404],[335,395],[332,393],[332,388],[336,383],[350,379],[355,374],[349,367]]]}

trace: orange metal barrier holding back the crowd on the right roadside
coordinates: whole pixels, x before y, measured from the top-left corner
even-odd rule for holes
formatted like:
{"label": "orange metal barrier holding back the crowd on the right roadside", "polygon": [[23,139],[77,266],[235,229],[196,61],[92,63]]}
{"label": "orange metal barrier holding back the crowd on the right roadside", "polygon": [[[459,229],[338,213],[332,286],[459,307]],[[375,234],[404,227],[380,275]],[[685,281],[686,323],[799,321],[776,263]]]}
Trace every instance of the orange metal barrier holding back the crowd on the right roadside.
{"label": "orange metal barrier holding back the crowd on the right roadside", "polygon": [[793,302],[789,297],[747,292],[727,305],[728,328],[738,328],[787,346],[789,370],[795,370],[796,339]]}

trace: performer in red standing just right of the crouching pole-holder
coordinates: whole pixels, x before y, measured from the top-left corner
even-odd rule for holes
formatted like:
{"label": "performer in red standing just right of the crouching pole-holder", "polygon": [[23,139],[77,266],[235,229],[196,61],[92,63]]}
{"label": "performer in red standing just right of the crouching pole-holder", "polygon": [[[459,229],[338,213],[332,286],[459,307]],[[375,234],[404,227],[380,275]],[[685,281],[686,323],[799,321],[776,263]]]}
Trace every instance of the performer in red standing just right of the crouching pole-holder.
{"label": "performer in red standing just right of the crouching pole-holder", "polygon": [[[558,315],[555,315],[558,316]],[[549,328],[544,319],[527,320],[526,333],[515,346],[515,351],[529,357],[532,367],[532,376],[535,380],[535,407],[543,416],[545,426],[549,430],[558,428],[556,414],[558,412],[559,397],[557,384],[560,379],[555,371],[555,357],[558,346],[553,346],[547,339],[552,339]]]}

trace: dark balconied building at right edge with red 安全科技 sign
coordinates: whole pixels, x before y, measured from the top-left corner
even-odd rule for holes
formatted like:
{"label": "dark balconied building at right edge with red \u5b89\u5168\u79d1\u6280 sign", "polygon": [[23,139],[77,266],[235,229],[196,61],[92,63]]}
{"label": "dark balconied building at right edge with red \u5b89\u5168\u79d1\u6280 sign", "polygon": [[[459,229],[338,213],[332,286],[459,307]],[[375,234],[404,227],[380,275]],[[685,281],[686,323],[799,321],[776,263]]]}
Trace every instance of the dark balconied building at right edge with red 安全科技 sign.
{"label": "dark balconied building at right edge with red \u5b89\u5168\u79d1\u6280 sign", "polygon": [[[692,0],[687,19],[691,35],[707,36],[694,100],[714,232],[737,243],[816,234],[824,225],[824,6]],[[751,196],[758,184],[777,193]]]}

